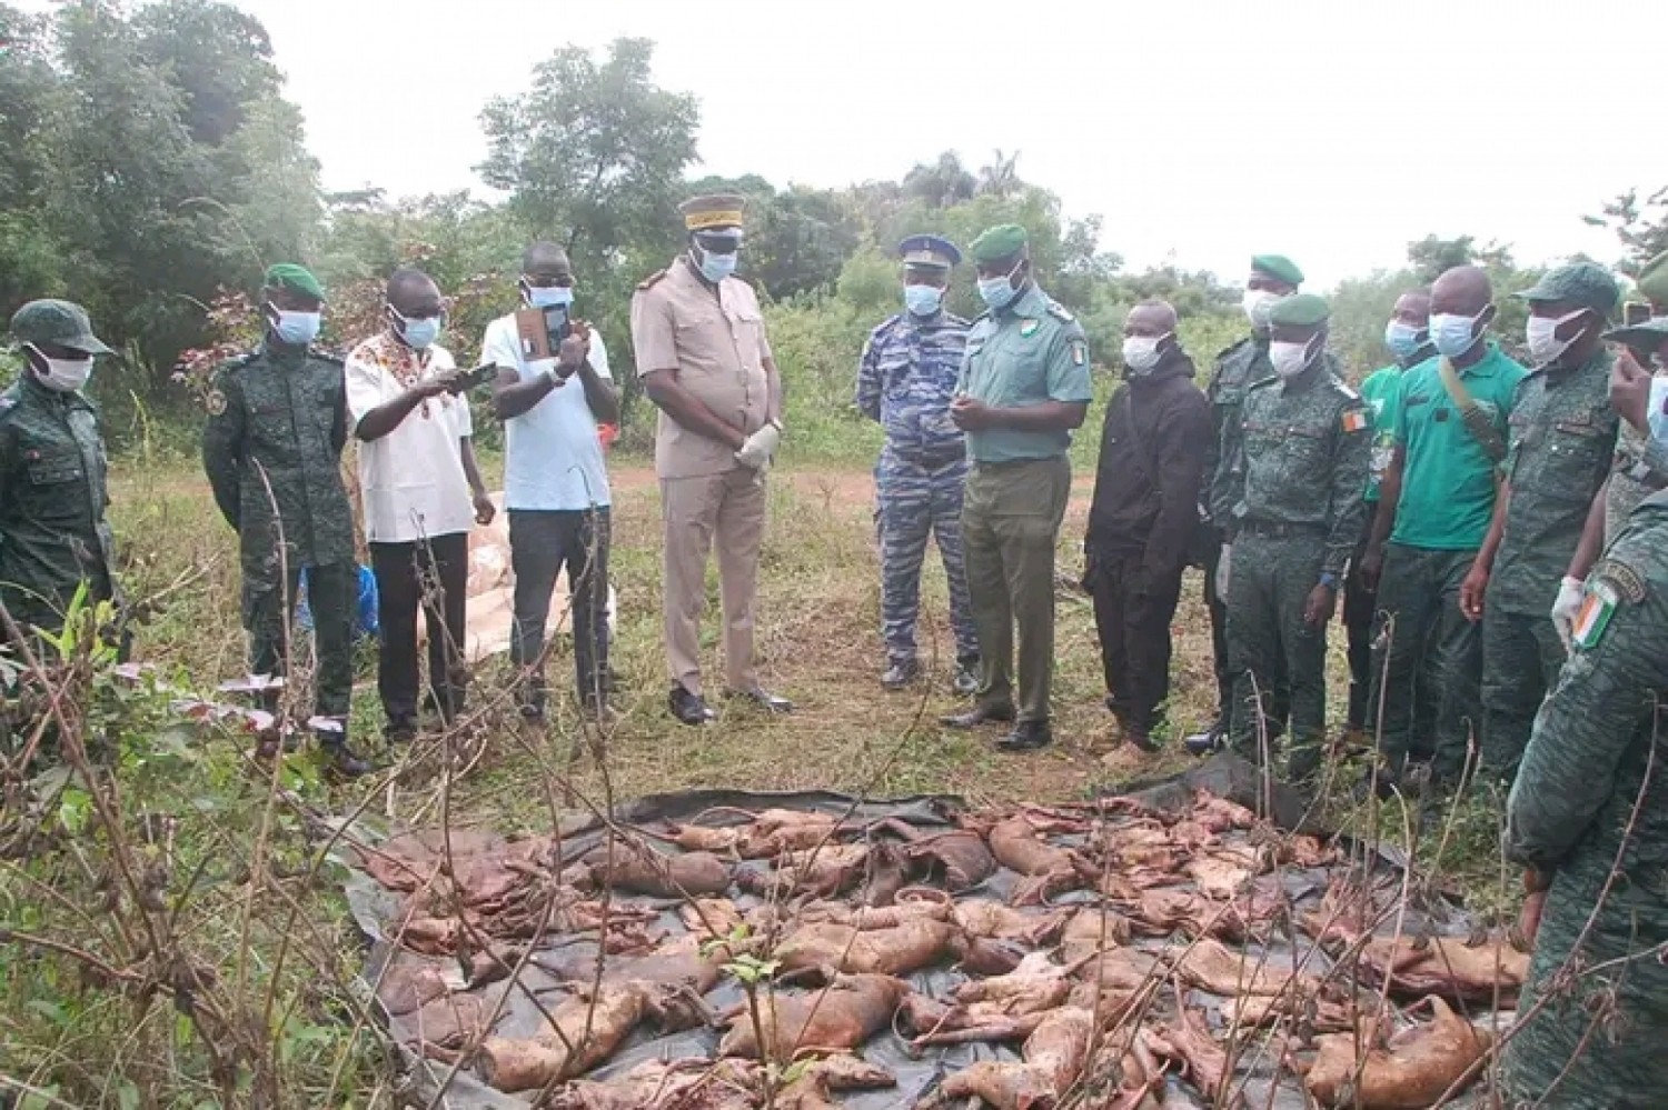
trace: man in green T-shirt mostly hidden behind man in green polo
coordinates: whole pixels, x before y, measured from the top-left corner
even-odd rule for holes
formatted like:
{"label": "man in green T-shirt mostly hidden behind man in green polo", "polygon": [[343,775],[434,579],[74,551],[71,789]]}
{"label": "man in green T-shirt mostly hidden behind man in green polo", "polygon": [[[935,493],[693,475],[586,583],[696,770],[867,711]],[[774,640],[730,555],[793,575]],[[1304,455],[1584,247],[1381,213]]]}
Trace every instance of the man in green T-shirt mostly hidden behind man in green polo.
{"label": "man in green T-shirt mostly hidden behind man in green polo", "polygon": [[1361,540],[1349,555],[1349,575],[1344,578],[1344,630],[1349,635],[1349,717],[1344,732],[1359,743],[1371,730],[1366,718],[1366,695],[1373,685],[1373,613],[1378,612],[1378,590],[1361,573],[1368,543],[1373,538],[1373,522],[1378,515],[1378,487],[1396,453],[1396,397],[1401,375],[1436,353],[1431,347],[1431,295],[1413,290],[1396,298],[1389,323],[1384,325],[1384,347],[1396,362],[1369,373],[1361,383],[1361,400],[1373,413],[1373,448],[1368,457],[1366,515],[1361,520]]}

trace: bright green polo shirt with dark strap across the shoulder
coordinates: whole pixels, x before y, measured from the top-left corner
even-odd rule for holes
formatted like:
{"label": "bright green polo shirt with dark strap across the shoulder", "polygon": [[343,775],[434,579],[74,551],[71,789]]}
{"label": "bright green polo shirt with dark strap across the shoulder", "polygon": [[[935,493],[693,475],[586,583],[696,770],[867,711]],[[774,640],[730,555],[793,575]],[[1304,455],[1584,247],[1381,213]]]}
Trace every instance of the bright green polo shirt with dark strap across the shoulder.
{"label": "bright green polo shirt with dark strap across the shoulder", "polygon": [[[1493,340],[1480,363],[1460,372],[1466,392],[1490,413],[1501,440],[1508,435],[1506,418],[1518,382],[1528,373]],[[1396,445],[1404,447],[1408,457],[1391,542],[1438,552],[1483,547],[1495,515],[1495,465],[1448,400],[1438,358],[1401,375],[1394,428]]]}

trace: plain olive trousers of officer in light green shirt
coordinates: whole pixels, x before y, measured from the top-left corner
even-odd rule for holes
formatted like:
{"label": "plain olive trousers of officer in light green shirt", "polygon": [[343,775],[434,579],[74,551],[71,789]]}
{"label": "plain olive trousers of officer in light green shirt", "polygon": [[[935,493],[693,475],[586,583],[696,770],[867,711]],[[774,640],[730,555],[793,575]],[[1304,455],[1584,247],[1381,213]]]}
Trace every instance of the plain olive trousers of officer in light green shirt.
{"label": "plain olive trousers of officer in light green shirt", "polygon": [[1014,703],[1019,625],[1019,720],[1049,717],[1054,678],[1054,543],[1071,497],[1071,463],[1037,458],[974,463],[961,510],[972,623],[979,630],[979,705]]}

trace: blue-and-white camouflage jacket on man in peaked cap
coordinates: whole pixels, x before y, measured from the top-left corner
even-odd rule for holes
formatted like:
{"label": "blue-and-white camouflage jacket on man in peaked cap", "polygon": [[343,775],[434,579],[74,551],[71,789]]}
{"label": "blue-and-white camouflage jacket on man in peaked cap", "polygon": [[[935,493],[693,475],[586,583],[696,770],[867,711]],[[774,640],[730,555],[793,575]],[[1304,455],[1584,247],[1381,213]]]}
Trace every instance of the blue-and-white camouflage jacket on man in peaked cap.
{"label": "blue-and-white camouflage jacket on man in peaked cap", "polygon": [[857,408],[881,422],[899,458],[944,465],[966,453],[949,418],[966,350],[967,322],[947,312],[931,320],[899,313],[869,333],[857,363]]}

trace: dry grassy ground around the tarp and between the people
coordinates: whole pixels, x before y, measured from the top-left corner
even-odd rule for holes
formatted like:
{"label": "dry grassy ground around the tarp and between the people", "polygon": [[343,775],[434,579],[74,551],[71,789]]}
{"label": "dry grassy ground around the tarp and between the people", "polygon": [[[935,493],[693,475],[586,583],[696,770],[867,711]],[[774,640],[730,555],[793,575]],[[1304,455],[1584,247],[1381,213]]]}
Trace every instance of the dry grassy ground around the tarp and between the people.
{"label": "dry grassy ground around the tarp and between the people", "polygon": [[[1179,747],[1179,735],[1203,727],[1216,708],[1209,620],[1196,572],[1188,575],[1174,620],[1169,720],[1176,735],[1168,738],[1161,753],[1143,755],[1118,745],[1111,718],[1101,705],[1104,690],[1091,608],[1081,595],[1063,593],[1054,685],[1058,742],[1039,753],[1001,755],[989,743],[994,733],[954,733],[937,725],[937,715],[959,702],[947,692],[952,640],[936,555],[927,560],[921,625],[922,657],[931,660],[932,683],[912,693],[887,695],[881,690],[872,483],[866,460],[861,462],[866,442],[856,437],[839,442],[839,437],[826,433],[819,443],[839,443],[844,462],[789,458],[771,478],[771,523],[759,587],[762,678],[769,688],[794,698],[799,710],[772,718],[724,705],[722,720],[699,730],[681,727],[666,713],[659,617],[661,513],[652,467],[641,455],[612,460],[612,585],[619,595],[614,663],[620,677],[620,720],[607,742],[607,788],[612,797],[741,787],[824,788],[874,797],[956,793],[974,803],[1048,803],[1081,798],[1101,787],[1164,775],[1191,763]],[[1079,450],[1088,453],[1089,447]],[[489,458],[485,465],[489,475],[499,470],[499,460]],[[1073,577],[1079,567],[1091,485],[1093,473],[1079,463],[1061,537],[1061,568]],[[157,463],[137,470],[118,465],[112,497],[112,520],[128,567],[123,578],[130,593],[138,598],[167,597],[158,617],[138,633],[138,657],[158,665],[172,680],[198,690],[212,690],[215,682],[240,675],[244,633],[239,627],[237,548],[200,472],[190,463]],[[721,685],[717,633],[712,573],[702,643],[714,687]],[[1331,640],[1329,690],[1333,717],[1338,718],[1348,680],[1341,627],[1334,627]],[[570,673],[569,648],[557,645],[549,663],[552,725],[547,737],[534,740],[547,745],[542,758],[527,750],[525,740],[515,738],[507,712],[494,708],[485,715],[480,760],[467,777],[449,783],[454,823],[547,828],[542,763],[550,757],[560,763],[567,737],[577,730],[579,720]],[[502,660],[482,667],[474,678],[472,705],[502,707],[505,678]],[[380,708],[369,653],[355,683],[352,728],[357,743],[374,755],[385,755],[377,738]],[[187,767],[172,787],[143,787],[123,770],[128,815],[135,820],[148,818],[152,812],[182,815],[182,838],[195,838],[183,852],[187,863],[190,858],[214,860],[232,853],[240,860],[239,867],[255,873],[264,867],[277,870],[282,862],[290,868],[290,878],[272,878],[265,885],[230,880],[202,893],[192,887],[175,893],[182,907],[195,900],[188,912],[182,908],[178,913],[185,933],[178,943],[197,958],[220,967],[222,975],[225,968],[249,962],[250,990],[265,992],[275,952],[287,943],[287,915],[300,910],[315,928],[307,930],[309,943],[294,940],[295,952],[285,967],[290,978],[282,980],[274,995],[284,1002],[279,1012],[287,1017],[275,1032],[269,1030],[272,1043],[280,1048],[275,1050],[274,1067],[284,1077],[279,1085],[282,1097],[269,1105],[389,1105],[389,1075],[369,1038],[347,1033],[359,1005],[349,982],[359,950],[330,878],[334,872],[312,855],[317,828],[305,820],[292,820],[294,815],[260,820],[265,782],[259,775],[249,780],[247,767],[240,763],[240,742],[220,737],[208,747],[217,762]],[[207,767],[215,770],[210,773]],[[1338,782],[1353,785],[1353,778],[1343,775]],[[324,812],[345,812],[369,802],[372,813],[394,822],[434,820],[437,813],[434,782],[417,775],[387,790],[379,788],[369,798],[364,788],[330,790],[314,780],[285,778],[284,785]],[[599,768],[590,760],[582,763],[574,785],[589,798],[604,797]],[[180,793],[183,790],[197,793],[187,798]],[[214,808],[215,802],[224,808]],[[1351,810],[1343,800],[1329,808],[1356,832],[1371,833],[1368,815]],[[1399,827],[1396,820],[1388,823]],[[1449,885],[1460,885],[1488,907],[1510,908],[1511,898],[1503,893],[1500,878],[1495,810],[1468,803],[1461,807],[1453,830],[1439,860]],[[1431,862],[1431,838],[1421,842],[1421,860]],[[108,848],[103,840],[93,847]],[[270,848],[272,863],[262,863],[257,848]],[[309,858],[320,868],[317,875],[305,875]],[[302,872],[299,882],[294,878],[297,865]],[[82,870],[87,870],[85,865]],[[188,867],[175,865],[175,872],[180,870]],[[30,873],[33,878],[25,878],[25,868],[17,865],[0,870],[0,923],[35,920],[45,928],[50,915],[38,905],[42,882],[63,883],[68,892],[98,890],[95,883],[88,885],[90,875],[62,863]],[[219,872],[210,868],[208,873]],[[93,947],[92,940],[87,943]],[[100,1032],[122,1030],[130,1020],[112,995],[88,995],[83,987],[72,985],[62,963],[32,962],[27,953],[23,962],[10,962],[5,952],[0,947],[0,992],[5,993],[0,1002],[0,1105],[7,1077],[42,1090],[65,1083],[67,1097],[73,1093],[70,1102],[48,1100],[40,1102],[42,1107],[215,1105],[205,1095],[214,1090],[208,1078],[182,1078],[190,1072],[182,1048],[190,1042],[187,1032],[162,1028],[163,1022],[147,1033],[142,1022],[112,1052],[108,1043],[100,1042]],[[75,1000],[73,1007],[67,1000]],[[225,1005],[234,1007],[235,1002],[227,998]],[[58,1017],[53,1018],[53,1013]],[[165,1063],[157,1060],[158,1052]],[[242,1102],[244,1088],[237,1090],[235,1102]]]}

